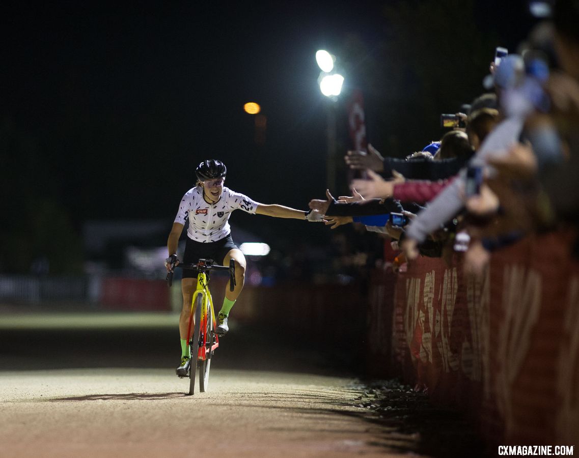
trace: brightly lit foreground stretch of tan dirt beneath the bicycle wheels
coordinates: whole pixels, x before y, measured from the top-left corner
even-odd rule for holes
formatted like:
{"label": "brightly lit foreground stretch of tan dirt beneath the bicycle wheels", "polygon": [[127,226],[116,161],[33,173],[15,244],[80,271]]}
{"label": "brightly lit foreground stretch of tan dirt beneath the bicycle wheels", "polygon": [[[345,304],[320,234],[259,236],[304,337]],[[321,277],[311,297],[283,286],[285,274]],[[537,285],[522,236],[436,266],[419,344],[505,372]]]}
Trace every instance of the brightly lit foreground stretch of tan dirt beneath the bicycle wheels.
{"label": "brightly lit foreground stretch of tan dirt beneath the bicycle wheels", "polygon": [[368,422],[355,383],[215,369],[207,393],[184,396],[171,370],[0,372],[0,455],[408,456],[416,437]]}

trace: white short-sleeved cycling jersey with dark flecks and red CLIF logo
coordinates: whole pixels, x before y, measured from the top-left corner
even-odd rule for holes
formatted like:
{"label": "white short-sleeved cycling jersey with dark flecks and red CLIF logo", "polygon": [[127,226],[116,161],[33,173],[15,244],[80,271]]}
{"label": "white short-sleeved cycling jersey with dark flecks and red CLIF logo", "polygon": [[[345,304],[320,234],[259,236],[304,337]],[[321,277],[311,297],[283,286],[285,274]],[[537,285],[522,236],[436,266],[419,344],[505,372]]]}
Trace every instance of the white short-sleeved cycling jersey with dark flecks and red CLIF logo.
{"label": "white short-sleeved cycling jersey with dark flecks and red CLIF logo", "polygon": [[215,204],[208,204],[203,198],[203,188],[196,186],[183,196],[175,223],[185,225],[185,221],[189,220],[187,236],[196,242],[217,242],[231,232],[228,220],[233,210],[244,210],[255,215],[258,205],[247,195],[225,186],[221,198]]}

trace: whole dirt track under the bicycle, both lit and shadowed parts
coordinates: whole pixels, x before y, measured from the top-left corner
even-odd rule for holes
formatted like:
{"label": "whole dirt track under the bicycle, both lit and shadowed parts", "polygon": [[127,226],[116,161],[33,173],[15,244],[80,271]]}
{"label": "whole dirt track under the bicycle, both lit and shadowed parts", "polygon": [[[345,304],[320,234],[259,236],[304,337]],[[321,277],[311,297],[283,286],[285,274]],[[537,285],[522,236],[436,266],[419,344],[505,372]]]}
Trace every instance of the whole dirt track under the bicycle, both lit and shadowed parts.
{"label": "whole dirt track under the bicycle, both lit and shadowed parts", "polygon": [[0,313],[0,456],[408,455],[341,354],[236,326],[207,393],[175,376],[177,317]]}

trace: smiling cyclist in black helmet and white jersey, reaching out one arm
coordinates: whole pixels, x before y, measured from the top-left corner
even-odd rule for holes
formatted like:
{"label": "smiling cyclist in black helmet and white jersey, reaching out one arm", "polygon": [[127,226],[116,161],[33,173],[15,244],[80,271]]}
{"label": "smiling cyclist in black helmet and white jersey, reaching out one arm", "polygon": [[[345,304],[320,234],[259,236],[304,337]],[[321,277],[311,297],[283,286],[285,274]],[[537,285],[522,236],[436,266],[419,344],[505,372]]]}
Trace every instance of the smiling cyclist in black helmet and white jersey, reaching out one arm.
{"label": "smiling cyclist in black helmet and white jersey, reaching out one arm", "polygon": [[[221,161],[214,159],[201,162],[195,171],[196,186],[183,196],[179,211],[173,223],[173,228],[167,241],[169,257],[165,266],[171,271],[179,264],[177,245],[185,222],[189,220],[184,264],[196,264],[200,258],[212,259],[215,263],[228,265],[229,260],[235,262],[236,286],[229,291],[229,282],[225,288],[225,298],[218,315],[218,335],[225,335],[228,330],[227,319],[233,304],[239,297],[245,278],[245,257],[237,248],[231,237],[229,216],[233,210],[244,210],[247,213],[267,215],[277,218],[305,219],[321,221],[321,214],[310,210],[296,210],[283,205],[265,205],[251,200],[247,195],[236,193],[223,186],[227,168]],[[190,365],[190,349],[187,341],[187,321],[193,293],[196,290],[197,278],[193,271],[183,271],[181,291],[183,293],[183,309],[179,317],[179,333],[181,334],[181,365],[177,375],[186,376]]]}

